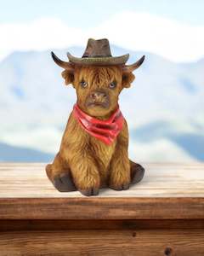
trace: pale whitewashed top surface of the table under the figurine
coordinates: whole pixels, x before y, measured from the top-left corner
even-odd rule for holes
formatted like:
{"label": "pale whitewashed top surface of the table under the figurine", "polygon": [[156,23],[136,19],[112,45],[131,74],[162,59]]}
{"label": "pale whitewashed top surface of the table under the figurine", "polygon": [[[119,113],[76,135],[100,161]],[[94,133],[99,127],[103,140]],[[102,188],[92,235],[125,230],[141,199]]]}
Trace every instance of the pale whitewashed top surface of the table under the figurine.
{"label": "pale whitewashed top surface of the table under the figurine", "polygon": [[[204,164],[144,164],[142,182],[124,191],[100,189],[99,197],[204,197]],[[44,171],[45,164],[0,163],[0,198],[79,197],[60,193]]]}

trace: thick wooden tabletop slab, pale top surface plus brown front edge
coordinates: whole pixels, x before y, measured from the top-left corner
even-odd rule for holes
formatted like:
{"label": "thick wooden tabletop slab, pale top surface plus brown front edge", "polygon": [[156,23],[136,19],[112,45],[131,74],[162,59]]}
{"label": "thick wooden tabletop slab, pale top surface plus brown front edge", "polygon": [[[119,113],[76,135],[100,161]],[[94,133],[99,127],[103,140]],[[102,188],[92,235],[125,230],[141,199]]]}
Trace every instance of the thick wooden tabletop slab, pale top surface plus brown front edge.
{"label": "thick wooden tabletop slab, pale top surface plus brown front edge", "polygon": [[143,165],[143,181],[95,197],[60,193],[44,164],[0,164],[0,219],[203,219],[204,165]]}

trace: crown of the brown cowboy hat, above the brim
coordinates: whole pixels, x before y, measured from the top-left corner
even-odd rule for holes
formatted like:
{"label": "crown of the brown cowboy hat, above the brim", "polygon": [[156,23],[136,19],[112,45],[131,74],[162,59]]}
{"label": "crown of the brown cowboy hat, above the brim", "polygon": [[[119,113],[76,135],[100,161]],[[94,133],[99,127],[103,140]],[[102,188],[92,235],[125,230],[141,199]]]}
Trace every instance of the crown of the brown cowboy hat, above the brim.
{"label": "crown of the brown cowboy hat, above the brim", "polygon": [[87,48],[85,49],[82,58],[97,58],[97,57],[111,57],[111,49],[109,40],[107,38],[95,40],[94,38],[88,39]]}

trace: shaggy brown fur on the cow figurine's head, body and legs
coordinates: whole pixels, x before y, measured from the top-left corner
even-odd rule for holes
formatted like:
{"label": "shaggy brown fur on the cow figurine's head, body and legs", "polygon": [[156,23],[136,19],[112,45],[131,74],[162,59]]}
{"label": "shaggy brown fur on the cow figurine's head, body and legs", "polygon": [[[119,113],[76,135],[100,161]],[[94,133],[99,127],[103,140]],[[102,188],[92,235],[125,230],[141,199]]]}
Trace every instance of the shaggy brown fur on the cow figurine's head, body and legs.
{"label": "shaggy brown fur on the cow figurine's head, body and legs", "polygon": [[[133,73],[123,73],[120,66],[77,66],[74,72],[62,72],[65,84],[73,84],[77,90],[77,104],[83,112],[97,119],[108,119],[116,110],[118,96],[123,88],[133,82]],[[82,81],[87,83],[82,87]],[[116,83],[111,89],[109,84]],[[88,107],[94,91],[105,91],[107,106]],[[99,98],[99,102],[103,99]],[[124,122],[122,131],[111,145],[99,141],[84,131],[71,113],[62,137],[59,153],[46,172],[59,191],[79,190],[83,195],[98,195],[99,188],[128,189],[144,176],[144,168],[128,159],[128,130]]]}

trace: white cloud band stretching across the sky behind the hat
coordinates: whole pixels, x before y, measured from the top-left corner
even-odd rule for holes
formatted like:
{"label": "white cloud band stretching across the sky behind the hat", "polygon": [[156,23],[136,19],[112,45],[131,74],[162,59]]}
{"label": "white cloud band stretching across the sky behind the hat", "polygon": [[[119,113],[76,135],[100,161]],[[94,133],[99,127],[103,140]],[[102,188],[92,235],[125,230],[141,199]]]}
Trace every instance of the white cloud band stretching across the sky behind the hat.
{"label": "white cloud band stretching across the sky behind the hat", "polygon": [[85,47],[88,38],[109,38],[111,44],[144,50],[172,61],[195,61],[204,55],[204,26],[190,26],[149,14],[123,12],[87,30],[55,18],[26,24],[0,24],[0,59],[14,50]]}

